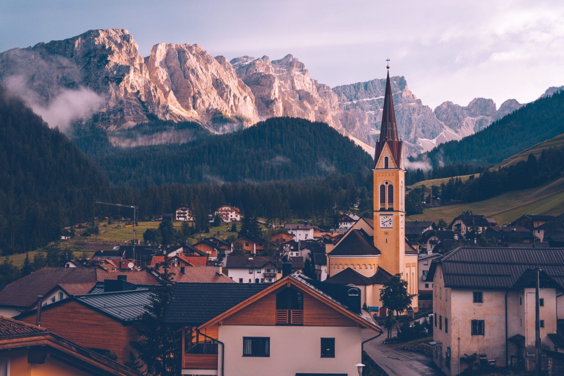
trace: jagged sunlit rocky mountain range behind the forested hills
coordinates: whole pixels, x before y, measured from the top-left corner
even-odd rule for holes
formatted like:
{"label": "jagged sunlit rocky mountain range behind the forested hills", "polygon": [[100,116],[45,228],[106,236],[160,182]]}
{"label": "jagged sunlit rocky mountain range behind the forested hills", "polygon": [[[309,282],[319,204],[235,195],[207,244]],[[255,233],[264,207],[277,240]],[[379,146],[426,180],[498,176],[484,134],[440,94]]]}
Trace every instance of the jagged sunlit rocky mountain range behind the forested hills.
{"label": "jagged sunlit rocky mountain range behind the forested hills", "polygon": [[[413,95],[404,77],[391,81],[398,131],[408,153],[470,135],[521,107],[508,100],[496,109],[491,99],[476,98],[466,107],[445,102],[433,111]],[[108,130],[158,118],[228,132],[268,117],[291,116],[327,122],[368,144],[363,145],[368,150],[380,131],[386,80],[331,89],[311,78],[292,55],[227,61],[199,45],[159,43],[143,58],[127,30],[108,29],[2,52],[0,82],[34,109],[58,104],[52,112],[64,112],[70,103],[80,108],[72,116]],[[85,92],[87,101],[81,100]],[[73,100],[61,101],[62,96]],[[61,126],[54,122],[51,126]],[[171,138],[151,143],[160,139]]]}

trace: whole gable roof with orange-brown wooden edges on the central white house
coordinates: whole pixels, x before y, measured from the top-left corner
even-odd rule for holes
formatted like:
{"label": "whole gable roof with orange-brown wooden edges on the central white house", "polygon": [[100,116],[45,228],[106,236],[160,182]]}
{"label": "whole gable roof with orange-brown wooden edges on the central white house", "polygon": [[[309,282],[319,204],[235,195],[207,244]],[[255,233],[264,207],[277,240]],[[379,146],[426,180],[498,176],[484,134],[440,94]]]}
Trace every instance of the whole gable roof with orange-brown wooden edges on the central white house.
{"label": "whole gable roof with orange-brown wooden edges on the central white house", "polygon": [[[345,316],[349,317],[350,319],[367,326],[373,330],[377,330],[382,332],[380,326],[376,324],[376,321],[368,314],[368,312],[360,310],[360,313],[353,313],[350,309],[346,306],[345,303],[342,302],[343,294],[346,294],[351,287],[349,286],[340,286],[329,284],[327,282],[320,282],[314,281],[310,278],[306,277],[302,273],[294,272],[291,275],[285,276],[280,280],[274,282],[273,284],[232,284],[228,287],[231,289],[231,292],[240,299],[243,294],[250,293],[250,290],[254,289],[257,290],[256,293],[248,295],[247,298],[244,300],[240,300],[239,303],[233,304],[233,300],[230,299],[231,307],[228,307],[228,304],[223,304],[224,302],[220,302],[219,304],[223,304],[222,312],[216,314],[215,316],[211,316],[212,314],[209,312],[209,308],[204,308],[205,303],[209,300],[209,295],[205,293],[205,291],[199,291],[199,287],[197,286],[201,284],[177,284],[173,291],[173,298],[171,299],[171,303],[169,305],[168,311],[166,312],[165,322],[169,322],[170,324],[184,324],[184,325],[196,325],[199,328],[204,328],[208,325],[214,325],[217,322],[221,321],[227,316],[230,316],[232,313],[239,311],[240,309],[248,306],[249,304],[255,302],[256,300],[262,298],[268,293],[279,289],[280,287],[290,284],[298,289],[312,295],[315,298],[318,298],[322,302],[326,303],[327,305],[335,308],[337,311],[343,313]],[[217,284],[219,285],[219,284]],[[210,287],[208,285],[208,287]],[[262,287],[262,289],[261,289]],[[191,291],[192,294],[186,294],[187,290]],[[218,289],[217,289],[218,290]],[[216,291],[217,291],[216,290]],[[177,292],[178,291],[178,292]],[[239,293],[242,291],[243,294]],[[239,300],[237,299],[237,300]],[[222,300],[222,299],[214,299],[214,300]],[[199,307],[199,315],[188,315],[187,311],[193,311],[194,307]],[[218,303],[213,304],[214,307],[218,306]],[[203,309],[202,309],[203,308]],[[201,313],[205,313],[202,315]],[[218,310],[216,310],[217,312]],[[180,315],[180,316],[179,316]],[[184,317],[183,317],[184,316]],[[210,319],[205,320],[206,317],[210,317]],[[195,320],[198,319],[199,322]]]}

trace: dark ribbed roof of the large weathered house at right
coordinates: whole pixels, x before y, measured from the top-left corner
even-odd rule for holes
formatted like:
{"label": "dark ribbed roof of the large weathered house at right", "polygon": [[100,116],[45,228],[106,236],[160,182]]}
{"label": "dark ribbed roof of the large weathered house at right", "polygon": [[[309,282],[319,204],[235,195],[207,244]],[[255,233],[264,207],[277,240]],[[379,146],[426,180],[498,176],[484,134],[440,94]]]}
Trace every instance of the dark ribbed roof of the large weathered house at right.
{"label": "dark ribbed roof of the large weathered house at right", "polygon": [[460,247],[433,261],[428,281],[433,280],[438,264],[446,287],[510,289],[537,265],[564,286],[564,248]]}

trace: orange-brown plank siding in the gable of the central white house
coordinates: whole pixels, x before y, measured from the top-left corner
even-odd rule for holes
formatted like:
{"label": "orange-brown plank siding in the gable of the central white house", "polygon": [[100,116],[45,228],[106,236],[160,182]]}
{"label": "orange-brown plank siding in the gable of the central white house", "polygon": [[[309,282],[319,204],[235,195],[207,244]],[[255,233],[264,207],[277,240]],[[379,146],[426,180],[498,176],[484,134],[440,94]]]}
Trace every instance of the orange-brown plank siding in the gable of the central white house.
{"label": "orange-brown plank siding in the gable of the central white house", "polygon": [[[281,291],[281,290],[277,290]],[[276,325],[276,292],[258,299],[223,320],[223,325]],[[321,300],[303,294],[304,326],[356,326],[356,322],[327,306]]]}

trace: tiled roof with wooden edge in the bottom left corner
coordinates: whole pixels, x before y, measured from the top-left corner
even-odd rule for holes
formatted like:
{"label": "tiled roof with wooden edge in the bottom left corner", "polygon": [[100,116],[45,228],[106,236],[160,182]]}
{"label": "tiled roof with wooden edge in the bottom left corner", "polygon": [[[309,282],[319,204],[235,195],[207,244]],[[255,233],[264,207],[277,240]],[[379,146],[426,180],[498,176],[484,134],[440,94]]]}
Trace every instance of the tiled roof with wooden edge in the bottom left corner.
{"label": "tiled roof with wooden edge in the bottom left corner", "polygon": [[19,350],[41,346],[43,351],[52,353],[56,359],[70,364],[73,369],[86,370],[91,375],[143,375],[50,331],[37,328],[35,325],[0,316],[0,328],[4,328],[4,330],[0,329],[0,350]]}

